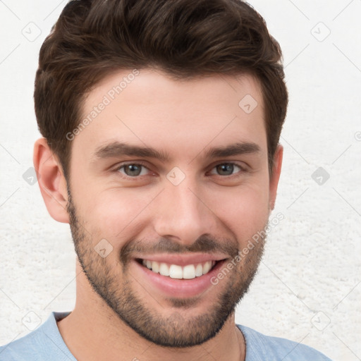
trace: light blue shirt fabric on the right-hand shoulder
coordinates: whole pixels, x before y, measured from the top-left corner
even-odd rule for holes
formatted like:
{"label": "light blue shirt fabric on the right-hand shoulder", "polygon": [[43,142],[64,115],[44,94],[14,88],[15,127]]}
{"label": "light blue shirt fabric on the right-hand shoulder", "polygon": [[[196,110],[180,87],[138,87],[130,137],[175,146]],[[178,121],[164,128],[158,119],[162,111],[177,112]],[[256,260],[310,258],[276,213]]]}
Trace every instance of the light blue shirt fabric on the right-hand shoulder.
{"label": "light blue shirt fabric on the right-hand shoulder", "polygon": [[245,337],[246,361],[331,361],[319,351],[302,343],[266,336],[240,324],[236,326]]}

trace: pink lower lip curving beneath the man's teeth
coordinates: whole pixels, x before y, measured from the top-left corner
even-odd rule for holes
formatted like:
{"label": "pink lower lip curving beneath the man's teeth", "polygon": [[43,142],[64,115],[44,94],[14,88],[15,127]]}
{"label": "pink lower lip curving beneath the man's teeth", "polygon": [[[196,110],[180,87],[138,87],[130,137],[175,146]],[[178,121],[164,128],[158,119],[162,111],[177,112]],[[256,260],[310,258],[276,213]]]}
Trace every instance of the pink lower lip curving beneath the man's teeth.
{"label": "pink lower lip curving beneath the man's teeth", "polygon": [[204,293],[208,288],[213,287],[214,285],[212,284],[211,279],[218,274],[219,269],[221,269],[224,262],[226,262],[226,260],[217,262],[211,271],[203,276],[195,277],[195,279],[171,279],[169,276],[156,274],[134,260],[135,266],[140,271],[141,277],[143,279],[145,278],[147,283],[155,286],[167,296],[178,298],[194,297]]}

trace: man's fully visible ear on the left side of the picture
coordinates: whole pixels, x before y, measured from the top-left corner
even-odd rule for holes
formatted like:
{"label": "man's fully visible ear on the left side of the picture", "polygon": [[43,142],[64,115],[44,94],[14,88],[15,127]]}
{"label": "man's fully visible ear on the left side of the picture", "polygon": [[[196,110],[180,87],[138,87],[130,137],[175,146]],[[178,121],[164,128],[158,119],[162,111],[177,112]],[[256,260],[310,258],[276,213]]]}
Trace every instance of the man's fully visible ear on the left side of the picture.
{"label": "man's fully visible ear on the left side of the picture", "polygon": [[47,140],[40,138],[35,142],[33,162],[38,174],[40,192],[52,218],[62,223],[69,223],[66,210],[68,190],[66,178],[58,158],[49,148]]}

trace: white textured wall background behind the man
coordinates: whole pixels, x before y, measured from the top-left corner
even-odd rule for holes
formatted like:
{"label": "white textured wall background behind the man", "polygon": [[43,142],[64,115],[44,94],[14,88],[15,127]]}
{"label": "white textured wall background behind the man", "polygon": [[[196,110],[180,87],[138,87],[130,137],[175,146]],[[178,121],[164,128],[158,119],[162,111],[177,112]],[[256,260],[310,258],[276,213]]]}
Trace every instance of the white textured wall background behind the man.
{"label": "white textured wall background behind the man", "polygon": [[[75,302],[69,227],[51,219],[37,183],[23,179],[39,137],[37,56],[65,4],[0,0],[0,344]],[[290,104],[273,214],[285,219],[269,235],[236,322],[333,360],[361,360],[361,1],[250,4],[281,43],[286,66]],[[316,173],[314,181],[319,167],[328,180]]]}

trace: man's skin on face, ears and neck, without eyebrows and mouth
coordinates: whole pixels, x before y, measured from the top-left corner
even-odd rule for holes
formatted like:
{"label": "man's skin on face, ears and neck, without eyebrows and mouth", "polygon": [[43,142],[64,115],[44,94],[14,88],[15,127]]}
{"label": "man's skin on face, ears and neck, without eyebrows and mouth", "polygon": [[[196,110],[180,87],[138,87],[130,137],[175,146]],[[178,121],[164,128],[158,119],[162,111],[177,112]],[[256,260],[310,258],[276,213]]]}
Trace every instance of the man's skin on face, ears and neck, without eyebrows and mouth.
{"label": "man's skin on face, ears and neck, without eyebrows and mouth", "polygon": [[[130,72],[104,78],[83,114]],[[238,106],[246,94],[258,103],[250,114]],[[115,141],[154,147],[170,159],[95,157],[99,147]],[[259,150],[205,157],[212,147],[236,142]],[[35,143],[34,164],[49,214],[71,224],[78,255],[75,309],[58,322],[77,360],[245,360],[234,308],[257,270],[263,242],[216,286],[192,298],[152,287],[134,258],[160,252],[162,244],[162,254],[214,252],[230,262],[267,225],[283,148],[276,149],[270,176],[257,80],[212,75],[176,81],[141,70],[71,147],[68,184],[44,138]],[[127,178],[121,166],[139,161],[146,168],[138,176],[128,169]],[[229,163],[235,165],[228,173],[217,167]],[[185,176],[178,185],[167,178],[174,167]],[[113,247],[105,258],[94,251],[102,239]]]}

